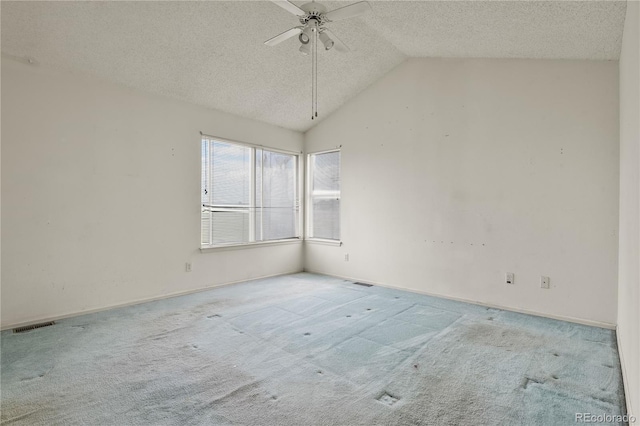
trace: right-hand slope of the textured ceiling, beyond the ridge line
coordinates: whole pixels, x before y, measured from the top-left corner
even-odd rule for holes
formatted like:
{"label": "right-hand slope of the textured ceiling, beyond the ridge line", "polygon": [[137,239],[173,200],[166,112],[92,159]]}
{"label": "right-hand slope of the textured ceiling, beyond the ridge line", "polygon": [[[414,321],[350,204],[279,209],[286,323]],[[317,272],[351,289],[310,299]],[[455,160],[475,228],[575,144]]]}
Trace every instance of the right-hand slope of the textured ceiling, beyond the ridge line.
{"label": "right-hand slope of the textured ceiling, beyond the ridge line", "polygon": [[375,10],[366,23],[408,56],[617,60],[626,3],[412,1]]}

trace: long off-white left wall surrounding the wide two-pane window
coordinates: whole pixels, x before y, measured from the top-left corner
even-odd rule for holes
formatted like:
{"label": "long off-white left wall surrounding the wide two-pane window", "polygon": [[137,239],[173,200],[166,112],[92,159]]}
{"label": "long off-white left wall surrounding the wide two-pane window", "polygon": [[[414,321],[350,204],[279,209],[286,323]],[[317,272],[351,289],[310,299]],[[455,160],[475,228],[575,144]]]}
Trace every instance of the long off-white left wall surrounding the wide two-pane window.
{"label": "long off-white left wall surrounding the wide two-pane window", "polygon": [[3,58],[2,327],[302,270],[300,243],[200,253],[199,131],[302,150],[298,132]]}

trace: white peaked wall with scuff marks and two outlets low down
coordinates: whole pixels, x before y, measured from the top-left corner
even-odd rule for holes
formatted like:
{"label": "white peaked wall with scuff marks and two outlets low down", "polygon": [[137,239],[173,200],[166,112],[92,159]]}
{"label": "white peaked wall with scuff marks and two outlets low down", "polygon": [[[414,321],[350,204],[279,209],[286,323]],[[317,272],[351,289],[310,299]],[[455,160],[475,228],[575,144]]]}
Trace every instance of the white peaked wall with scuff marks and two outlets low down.
{"label": "white peaked wall with scuff marks and two outlets low down", "polygon": [[344,242],[305,269],[615,324],[617,65],[403,63],[305,136],[342,145]]}

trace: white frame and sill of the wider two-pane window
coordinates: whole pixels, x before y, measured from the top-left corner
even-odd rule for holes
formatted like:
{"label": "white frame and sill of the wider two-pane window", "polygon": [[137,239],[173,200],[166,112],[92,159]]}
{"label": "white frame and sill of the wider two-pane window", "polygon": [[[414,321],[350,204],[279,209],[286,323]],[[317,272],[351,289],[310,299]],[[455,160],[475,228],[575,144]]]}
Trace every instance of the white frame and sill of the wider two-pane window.
{"label": "white frame and sill of the wider two-pane window", "polygon": [[[295,236],[290,238],[280,238],[274,240],[266,240],[266,241],[248,241],[248,242],[233,242],[233,243],[223,243],[223,244],[210,244],[203,245],[202,244],[202,143],[205,139],[213,140],[217,142],[239,145],[242,147],[251,148],[251,188],[250,188],[250,205],[249,205],[249,239],[254,239],[256,237],[256,225],[255,225],[255,203],[256,203],[256,150],[261,149],[263,151],[276,152],[281,154],[292,155],[296,158],[296,171],[295,171],[295,204],[297,207],[297,212],[295,215],[296,223],[295,223]],[[200,251],[216,251],[216,250],[225,250],[225,249],[241,249],[247,247],[256,247],[256,246],[269,246],[269,245],[279,245],[279,244],[291,244],[291,243],[300,243],[303,240],[303,219],[304,219],[304,211],[301,200],[303,200],[304,194],[304,170],[302,165],[302,152],[301,151],[289,151],[286,149],[280,148],[272,148],[266,145],[260,144],[252,144],[248,142],[241,142],[228,138],[221,138],[218,136],[208,135],[200,132],[200,196],[198,197],[199,205],[200,205]],[[208,159],[209,164],[211,160]]]}

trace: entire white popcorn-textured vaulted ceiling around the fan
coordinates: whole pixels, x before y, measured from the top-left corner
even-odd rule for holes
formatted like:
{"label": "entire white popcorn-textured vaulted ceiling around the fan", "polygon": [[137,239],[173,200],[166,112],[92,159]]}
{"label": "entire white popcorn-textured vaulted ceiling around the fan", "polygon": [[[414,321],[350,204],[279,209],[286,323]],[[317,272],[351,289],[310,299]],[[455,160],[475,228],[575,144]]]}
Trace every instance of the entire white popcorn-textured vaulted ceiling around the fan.
{"label": "entire white popcorn-textured vaulted ceiling around the fan", "polygon": [[[303,2],[294,1],[300,5]],[[329,9],[345,2],[323,2]],[[319,118],[408,56],[618,59],[625,2],[372,1],[330,24],[351,52],[319,52]],[[43,66],[305,131],[311,62],[297,19],[268,1],[1,3],[2,52]]]}

